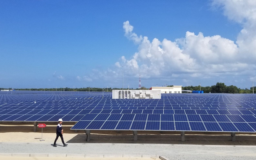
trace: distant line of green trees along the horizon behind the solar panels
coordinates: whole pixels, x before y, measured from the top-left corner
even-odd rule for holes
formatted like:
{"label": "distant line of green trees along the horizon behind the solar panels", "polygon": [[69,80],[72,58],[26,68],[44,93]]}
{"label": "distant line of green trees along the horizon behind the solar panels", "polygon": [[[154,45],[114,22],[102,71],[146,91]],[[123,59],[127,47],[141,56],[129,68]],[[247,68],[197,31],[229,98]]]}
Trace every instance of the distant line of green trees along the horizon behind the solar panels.
{"label": "distant line of green trees along the horizon behind the solar panels", "polygon": [[[173,85],[171,85],[170,87],[172,87]],[[169,87],[169,86],[167,86]],[[25,91],[56,91],[56,88],[0,88],[0,89],[15,89],[15,90],[25,90]],[[122,88],[104,88],[104,92],[112,92],[112,90],[121,90]],[[128,88],[124,88],[124,90],[127,90]],[[129,88],[129,89],[134,89],[134,88]],[[147,90],[149,88],[146,88],[144,86],[141,87],[141,90]],[[254,91],[256,93],[256,86],[254,87]],[[138,90],[138,88],[136,88],[135,90]],[[182,90],[191,90],[191,91],[199,91],[200,90],[200,86],[185,86],[182,87]],[[57,88],[57,91],[63,91],[63,88]],[[102,92],[102,88],[91,88],[91,87],[86,87],[86,88],[65,88],[65,91],[87,91],[87,92]],[[216,85],[213,86],[201,86],[201,91],[204,91],[204,93],[253,93],[253,87],[251,87],[250,89],[245,88],[245,89],[241,89],[238,88],[237,86],[226,86],[224,83],[216,83]]]}

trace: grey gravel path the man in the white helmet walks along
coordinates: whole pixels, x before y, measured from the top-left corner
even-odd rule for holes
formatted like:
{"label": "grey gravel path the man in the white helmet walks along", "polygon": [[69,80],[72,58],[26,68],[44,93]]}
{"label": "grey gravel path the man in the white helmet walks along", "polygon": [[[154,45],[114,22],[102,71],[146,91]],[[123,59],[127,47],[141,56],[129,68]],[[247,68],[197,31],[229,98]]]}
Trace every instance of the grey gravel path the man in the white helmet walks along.
{"label": "grey gravel path the man in the white helmet walks along", "polygon": [[162,155],[169,159],[256,159],[256,146],[202,146],[172,144],[51,144],[0,143],[0,153],[74,153]]}

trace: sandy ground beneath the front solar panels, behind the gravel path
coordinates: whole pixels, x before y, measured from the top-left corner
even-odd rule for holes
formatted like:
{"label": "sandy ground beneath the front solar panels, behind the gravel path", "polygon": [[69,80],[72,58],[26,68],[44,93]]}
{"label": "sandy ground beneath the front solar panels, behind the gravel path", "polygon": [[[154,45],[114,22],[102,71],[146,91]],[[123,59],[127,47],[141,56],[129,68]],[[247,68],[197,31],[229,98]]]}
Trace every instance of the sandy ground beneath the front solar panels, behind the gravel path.
{"label": "sandy ground beneath the front solar panels, behind the gravel path", "polygon": [[[33,131],[32,123],[0,123],[0,142],[8,143],[53,143],[57,124],[46,123],[42,129]],[[86,142],[84,131],[77,133],[70,128],[74,123],[63,122],[65,143],[143,143],[143,144],[203,144],[203,145],[256,145],[255,133],[237,133],[236,141],[231,141],[230,133],[185,132],[181,141],[180,132],[175,131],[138,131],[138,141],[133,140],[132,131],[91,131],[91,141]],[[57,143],[61,144],[59,138]]]}

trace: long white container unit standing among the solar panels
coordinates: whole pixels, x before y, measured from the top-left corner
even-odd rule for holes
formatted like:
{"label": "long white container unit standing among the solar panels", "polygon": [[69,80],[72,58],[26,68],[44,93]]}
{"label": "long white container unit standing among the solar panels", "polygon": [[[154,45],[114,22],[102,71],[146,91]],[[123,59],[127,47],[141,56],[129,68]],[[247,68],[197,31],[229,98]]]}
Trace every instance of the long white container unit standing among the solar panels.
{"label": "long white container unit standing among the solar panels", "polygon": [[112,99],[161,99],[161,90],[112,90]]}

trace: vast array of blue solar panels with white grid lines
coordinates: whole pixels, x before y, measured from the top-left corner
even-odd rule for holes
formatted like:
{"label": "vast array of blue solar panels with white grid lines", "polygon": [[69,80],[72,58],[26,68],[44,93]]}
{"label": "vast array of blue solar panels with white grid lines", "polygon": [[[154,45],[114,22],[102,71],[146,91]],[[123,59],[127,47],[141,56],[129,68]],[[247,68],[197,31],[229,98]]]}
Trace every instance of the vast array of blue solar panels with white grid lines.
{"label": "vast array of blue solar panels with white grid lines", "polygon": [[[0,93],[0,121],[77,122],[75,130],[255,132],[254,94],[163,94],[112,99],[112,93]],[[36,102],[36,103],[35,103]]]}

